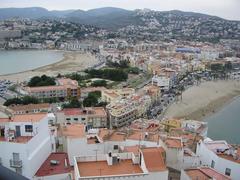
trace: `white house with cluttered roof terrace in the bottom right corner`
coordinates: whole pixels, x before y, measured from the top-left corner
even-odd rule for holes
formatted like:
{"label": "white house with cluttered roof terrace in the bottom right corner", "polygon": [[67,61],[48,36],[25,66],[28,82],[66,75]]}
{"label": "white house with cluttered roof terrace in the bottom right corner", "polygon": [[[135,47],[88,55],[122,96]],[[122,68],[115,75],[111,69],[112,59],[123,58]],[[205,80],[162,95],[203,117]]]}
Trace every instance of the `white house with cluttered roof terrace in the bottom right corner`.
{"label": "white house with cluttered roof terrace in the bottom right corner", "polygon": [[233,180],[240,179],[240,149],[226,141],[205,139],[197,145],[201,164],[216,169]]}

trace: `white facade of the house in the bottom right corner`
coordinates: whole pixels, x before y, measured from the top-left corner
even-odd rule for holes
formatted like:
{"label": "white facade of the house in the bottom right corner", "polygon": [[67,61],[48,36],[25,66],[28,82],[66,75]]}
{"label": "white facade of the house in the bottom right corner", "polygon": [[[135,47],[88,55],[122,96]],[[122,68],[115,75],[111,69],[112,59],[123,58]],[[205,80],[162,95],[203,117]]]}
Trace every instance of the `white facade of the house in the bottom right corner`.
{"label": "white facade of the house in the bottom right corner", "polygon": [[[215,146],[216,148],[214,150],[210,150],[209,146]],[[225,147],[227,149],[225,149]],[[224,153],[226,153],[226,155],[228,155],[232,160],[222,158],[221,156],[217,155],[217,151],[225,151]],[[237,158],[239,157],[236,156],[235,161],[231,153],[232,152],[230,152],[229,145],[226,141],[200,141],[197,145],[197,155],[200,156],[201,165],[212,167],[225,175],[228,168],[231,171],[230,177],[233,180],[239,180],[240,161],[238,160],[237,162]]]}

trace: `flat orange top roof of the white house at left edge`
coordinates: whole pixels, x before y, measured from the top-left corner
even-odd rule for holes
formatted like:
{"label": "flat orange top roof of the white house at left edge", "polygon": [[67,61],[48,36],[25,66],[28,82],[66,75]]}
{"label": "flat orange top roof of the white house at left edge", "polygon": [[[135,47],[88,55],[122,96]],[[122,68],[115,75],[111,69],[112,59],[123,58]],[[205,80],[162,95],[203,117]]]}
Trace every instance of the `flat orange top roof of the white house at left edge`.
{"label": "flat orange top roof of the white house at left edge", "polygon": [[39,122],[47,116],[47,113],[19,114],[11,118],[0,118],[1,122]]}

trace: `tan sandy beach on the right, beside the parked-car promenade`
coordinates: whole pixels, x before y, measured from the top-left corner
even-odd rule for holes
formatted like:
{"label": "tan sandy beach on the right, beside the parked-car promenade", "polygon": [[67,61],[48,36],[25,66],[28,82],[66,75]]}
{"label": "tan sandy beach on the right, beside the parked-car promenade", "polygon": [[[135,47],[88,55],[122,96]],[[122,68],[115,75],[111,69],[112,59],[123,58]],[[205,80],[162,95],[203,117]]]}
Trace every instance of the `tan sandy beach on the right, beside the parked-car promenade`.
{"label": "tan sandy beach on the right, beside the parked-car promenade", "polygon": [[170,105],[164,117],[202,120],[239,95],[239,81],[204,82],[187,89],[182,101]]}

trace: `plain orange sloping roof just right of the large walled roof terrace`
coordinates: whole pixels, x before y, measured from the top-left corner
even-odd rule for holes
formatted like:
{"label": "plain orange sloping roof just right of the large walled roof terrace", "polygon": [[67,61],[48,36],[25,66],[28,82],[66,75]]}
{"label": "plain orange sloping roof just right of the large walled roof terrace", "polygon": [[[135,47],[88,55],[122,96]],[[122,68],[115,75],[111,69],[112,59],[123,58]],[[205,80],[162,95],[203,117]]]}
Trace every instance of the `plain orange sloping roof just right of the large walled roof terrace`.
{"label": "plain orange sloping roof just right of the large walled roof terrace", "polygon": [[165,151],[162,147],[142,149],[144,161],[148,171],[158,172],[167,170],[165,164]]}

